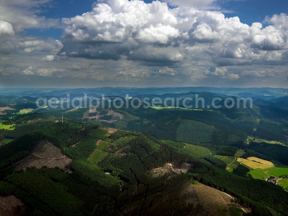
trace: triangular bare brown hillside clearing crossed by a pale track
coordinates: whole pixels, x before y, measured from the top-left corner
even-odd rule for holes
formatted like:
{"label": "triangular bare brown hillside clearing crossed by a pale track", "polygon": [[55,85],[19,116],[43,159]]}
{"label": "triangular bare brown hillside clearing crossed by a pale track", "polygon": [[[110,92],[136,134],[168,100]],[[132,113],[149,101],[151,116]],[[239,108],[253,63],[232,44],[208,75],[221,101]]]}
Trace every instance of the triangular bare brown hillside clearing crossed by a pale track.
{"label": "triangular bare brown hillside clearing crossed by a pale track", "polygon": [[42,168],[42,166],[47,166],[48,168],[59,167],[68,171],[65,166],[71,163],[72,160],[63,155],[57,147],[52,143],[42,141],[34,149],[33,153],[26,158],[22,159],[18,164],[18,170],[25,170],[26,167],[35,166],[37,169]]}

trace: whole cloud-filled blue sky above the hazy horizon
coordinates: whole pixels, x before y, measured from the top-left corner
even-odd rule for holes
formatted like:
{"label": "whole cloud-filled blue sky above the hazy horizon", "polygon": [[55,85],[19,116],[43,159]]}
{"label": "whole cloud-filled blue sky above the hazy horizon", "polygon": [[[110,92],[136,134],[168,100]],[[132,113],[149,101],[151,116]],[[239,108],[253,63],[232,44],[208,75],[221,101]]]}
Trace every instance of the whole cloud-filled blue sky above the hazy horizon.
{"label": "whole cloud-filled blue sky above the hazy horizon", "polygon": [[288,1],[162,2],[1,0],[0,87],[287,88]]}

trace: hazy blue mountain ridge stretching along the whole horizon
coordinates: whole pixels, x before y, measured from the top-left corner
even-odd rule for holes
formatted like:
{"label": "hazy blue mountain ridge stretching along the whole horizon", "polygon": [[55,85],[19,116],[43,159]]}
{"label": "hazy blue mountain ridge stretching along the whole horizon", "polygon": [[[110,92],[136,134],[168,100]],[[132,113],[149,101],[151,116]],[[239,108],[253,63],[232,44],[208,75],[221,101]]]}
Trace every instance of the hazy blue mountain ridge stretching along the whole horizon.
{"label": "hazy blue mountain ridge stretching along the whole horizon", "polygon": [[[212,92],[216,94],[235,95],[242,92],[251,93],[259,96],[273,96],[275,98],[288,96],[288,89],[285,88],[228,88],[228,87],[150,87],[150,88],[132,88],[132,87],[99,87],[99,88],[0,88],[0,95],[13,96],[43,96],[55,95],[61,96],[66,94],[73,95],[119,95],[135,96],[139,94],[176,94],[186,92]],[[259,95],[259,96],[258,96]],[[260,97],[259,97],[260,98]],[[262,98],[264,99],[264,98]]]}

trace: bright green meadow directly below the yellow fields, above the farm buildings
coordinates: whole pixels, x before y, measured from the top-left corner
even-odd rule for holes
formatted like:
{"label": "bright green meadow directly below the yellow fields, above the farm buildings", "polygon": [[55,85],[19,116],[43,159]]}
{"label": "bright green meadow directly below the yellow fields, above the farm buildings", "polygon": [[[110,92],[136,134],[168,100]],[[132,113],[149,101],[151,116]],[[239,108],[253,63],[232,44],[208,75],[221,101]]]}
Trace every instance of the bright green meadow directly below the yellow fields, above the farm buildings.
{"label": "bright green meadow directly below the yellow fields, above the farm buildings", "polygon": [[287,175],[288,174],[288,168],[277,167],[277,166],[272,166],[272,167],[266,168],[266,169],[256,168],[254,170],[251,170],[249,172],[249,174],[251,174],[254,179],[264,179],[264,178],[268,178],[270,176],[274,176],[274,177],[278,178],[280,176]]}

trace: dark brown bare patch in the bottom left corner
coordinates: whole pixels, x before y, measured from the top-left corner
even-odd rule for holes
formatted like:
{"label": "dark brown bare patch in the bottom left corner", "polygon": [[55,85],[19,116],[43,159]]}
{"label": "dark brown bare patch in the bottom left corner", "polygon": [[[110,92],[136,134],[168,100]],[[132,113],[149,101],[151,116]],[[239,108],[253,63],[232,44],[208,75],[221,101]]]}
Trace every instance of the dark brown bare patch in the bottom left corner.
{"label": "dark brown bare patch in the bottom left corner", "polygon": [[[17,209],[18,206],[18,209]],[[0,215],[23,215],[24,203],[16,196],[0,196]]]}

